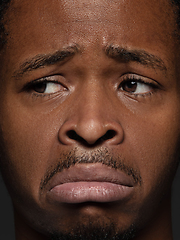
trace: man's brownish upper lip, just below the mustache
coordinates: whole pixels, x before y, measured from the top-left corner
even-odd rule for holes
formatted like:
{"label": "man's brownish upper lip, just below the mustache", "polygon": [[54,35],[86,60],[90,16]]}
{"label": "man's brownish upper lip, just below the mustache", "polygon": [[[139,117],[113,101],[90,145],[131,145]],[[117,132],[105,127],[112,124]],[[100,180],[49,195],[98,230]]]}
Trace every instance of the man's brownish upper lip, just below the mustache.
{"label": "man's brownish upper lip, just below the mustache", "polygon": [[120,170],[101,163],[80,163],[56,173],[48,183],[48,190],[70,182],[109,182],[128,187],[135,184],[132,176]]}

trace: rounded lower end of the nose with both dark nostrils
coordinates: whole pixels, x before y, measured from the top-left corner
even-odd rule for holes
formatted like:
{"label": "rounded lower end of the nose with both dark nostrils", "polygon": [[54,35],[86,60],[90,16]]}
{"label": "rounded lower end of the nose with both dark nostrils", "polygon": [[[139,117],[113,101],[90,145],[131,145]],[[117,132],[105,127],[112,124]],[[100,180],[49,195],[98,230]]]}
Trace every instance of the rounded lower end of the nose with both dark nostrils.
{"label": "rounded lower end of the nose with both dark nostrils", "polygon": [[103,124],[98,119],[74,123],[67,121],[59,131],[59,140],[65,145],[79,143],[83,145],[114,144],[123,141],[123,130],[118,123]]}

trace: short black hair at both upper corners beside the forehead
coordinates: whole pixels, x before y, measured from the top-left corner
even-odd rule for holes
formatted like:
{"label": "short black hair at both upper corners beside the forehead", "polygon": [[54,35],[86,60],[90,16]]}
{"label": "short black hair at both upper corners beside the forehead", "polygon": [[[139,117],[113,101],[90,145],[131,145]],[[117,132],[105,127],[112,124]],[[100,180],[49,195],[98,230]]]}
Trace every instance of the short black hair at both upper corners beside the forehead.
{"label": "short black hair at both upper corners beside the forehead", "polygon": [[[9,7],[12,0],[0,0],[0,49],[4,46],[6,42],[6,36],[8,35],[4,27],[4,14]],[[180,30],[180,0],[170,0],[176,6],[175,15],[177,16],[177,25]],[[178,33],[178,38],[180,39],[180,34]]]}

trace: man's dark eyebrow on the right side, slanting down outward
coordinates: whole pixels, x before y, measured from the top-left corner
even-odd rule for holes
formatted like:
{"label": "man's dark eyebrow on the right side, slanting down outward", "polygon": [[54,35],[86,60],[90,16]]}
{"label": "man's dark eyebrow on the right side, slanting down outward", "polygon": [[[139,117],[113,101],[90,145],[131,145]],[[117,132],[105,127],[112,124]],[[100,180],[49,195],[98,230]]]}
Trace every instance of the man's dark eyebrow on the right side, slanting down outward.
{"label": "man's dark eyebrow on the right side, slanting down outward", "polygon": [[127,50],[126,48],[110,45],[105,48],[105,54],[119,62],[137,62],[154,69],[167,70],[161,58],[144,50]]}

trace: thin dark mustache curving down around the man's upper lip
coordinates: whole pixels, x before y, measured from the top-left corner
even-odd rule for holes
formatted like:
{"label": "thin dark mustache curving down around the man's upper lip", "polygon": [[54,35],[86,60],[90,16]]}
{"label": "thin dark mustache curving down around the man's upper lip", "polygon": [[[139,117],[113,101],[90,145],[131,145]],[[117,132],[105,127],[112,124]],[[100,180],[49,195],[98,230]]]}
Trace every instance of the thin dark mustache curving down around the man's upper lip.
{"label": "thin dark mustache curving down around the man's upper lip", "polygon": [[101,163],[112,169],[120,170],[126,175],[131,176],[135,184],[141,185],[141,175],[138,169],[125,164],[125,160],[121,156],[114,156],[107,148],[90,152],[79,152],[76,148],[72,151],[61,153],[55,166],[47,169],[44,177],[41,179],[40,189],[43,190],[57,173],[82,163]]}

